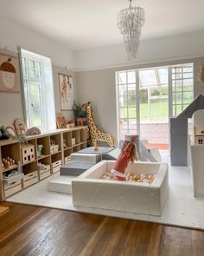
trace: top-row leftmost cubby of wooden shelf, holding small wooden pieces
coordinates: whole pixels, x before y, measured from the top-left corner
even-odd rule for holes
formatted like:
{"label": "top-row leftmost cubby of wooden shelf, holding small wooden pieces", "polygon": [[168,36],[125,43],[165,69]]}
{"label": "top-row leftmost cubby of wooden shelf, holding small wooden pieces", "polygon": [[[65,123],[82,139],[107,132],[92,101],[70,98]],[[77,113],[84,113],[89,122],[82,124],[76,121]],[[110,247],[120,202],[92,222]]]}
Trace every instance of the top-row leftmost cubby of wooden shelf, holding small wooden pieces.
{"label": "top-row leftmost cubby of wooden shelf, holding small wooden pieces", "polygon": [[17,167],[17,162],[21,161],[20,144],[14,143],[1,147],[3,172]]}

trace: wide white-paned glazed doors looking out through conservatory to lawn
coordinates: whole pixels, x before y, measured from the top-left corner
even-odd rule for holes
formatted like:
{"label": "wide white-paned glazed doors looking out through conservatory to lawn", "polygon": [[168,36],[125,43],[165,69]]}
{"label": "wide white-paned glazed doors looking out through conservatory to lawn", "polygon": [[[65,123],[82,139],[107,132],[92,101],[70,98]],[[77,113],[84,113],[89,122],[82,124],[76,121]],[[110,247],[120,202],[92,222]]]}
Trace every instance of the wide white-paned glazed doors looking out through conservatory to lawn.
{"label": "wide white-paned glazed doors looking out through conservatory to lawn", "polygon": [[154,123],[164,127],[169,117],[179,115],[194,99],[193,69],[194,64],[187,63],[116,72],[118,138],[141,135],[142,129],[155,128]]}

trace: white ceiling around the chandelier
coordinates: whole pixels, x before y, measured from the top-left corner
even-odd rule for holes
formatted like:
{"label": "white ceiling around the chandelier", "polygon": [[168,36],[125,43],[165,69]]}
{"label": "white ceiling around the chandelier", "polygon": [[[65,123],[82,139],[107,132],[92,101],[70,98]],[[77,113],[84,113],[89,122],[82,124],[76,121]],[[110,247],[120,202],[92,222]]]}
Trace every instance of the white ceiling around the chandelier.
{"label": "white ceiling around the chandelier", "polygon": [[[145,10],[142,39],[204,30],[203,0],[134,0],[132,5]],[[127,6],[127,0],[1,0],[0,16],[81,50],[122,43],[116,16]]]}

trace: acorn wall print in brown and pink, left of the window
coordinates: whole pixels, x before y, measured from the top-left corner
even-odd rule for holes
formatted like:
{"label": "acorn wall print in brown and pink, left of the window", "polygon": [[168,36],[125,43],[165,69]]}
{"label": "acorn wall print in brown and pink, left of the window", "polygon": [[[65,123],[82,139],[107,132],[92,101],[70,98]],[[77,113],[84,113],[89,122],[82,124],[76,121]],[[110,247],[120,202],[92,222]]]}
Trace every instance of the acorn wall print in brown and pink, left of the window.
{"label": "acorn wall print in brown and pink, left of the window", "polygon": [[0,53],[0,92],[19,93],[20,91],[18,57]]}

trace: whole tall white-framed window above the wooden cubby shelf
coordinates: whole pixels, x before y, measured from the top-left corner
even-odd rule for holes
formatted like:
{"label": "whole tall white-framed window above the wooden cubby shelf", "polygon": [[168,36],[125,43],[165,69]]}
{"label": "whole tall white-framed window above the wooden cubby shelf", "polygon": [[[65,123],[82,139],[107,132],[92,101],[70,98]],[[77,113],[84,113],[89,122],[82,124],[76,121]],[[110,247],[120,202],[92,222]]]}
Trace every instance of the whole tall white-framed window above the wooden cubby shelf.
{"label": "whole tall white-framed window above the wooden cubby shelf", "polygon": [[56,128],[51,60],[28,50],[22,52],[24,107],[28,128]]}

